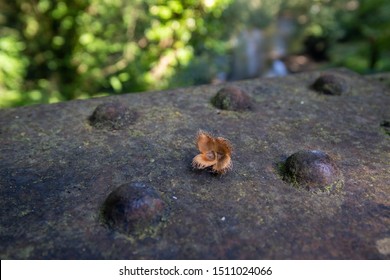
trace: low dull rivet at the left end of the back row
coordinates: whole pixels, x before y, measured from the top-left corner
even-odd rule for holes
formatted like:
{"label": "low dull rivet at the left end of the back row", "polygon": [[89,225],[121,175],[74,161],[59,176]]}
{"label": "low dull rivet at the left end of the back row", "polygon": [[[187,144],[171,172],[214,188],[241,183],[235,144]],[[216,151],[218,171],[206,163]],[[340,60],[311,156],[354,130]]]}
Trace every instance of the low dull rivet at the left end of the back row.
{"label": "low dull rivet at the left end of the back row", "polygon": [[95,128],[118,130],[133,124],[137,117],[137,112],[131,111],[125,105],[119,102],[110,102],[97,106],[89,121]]}

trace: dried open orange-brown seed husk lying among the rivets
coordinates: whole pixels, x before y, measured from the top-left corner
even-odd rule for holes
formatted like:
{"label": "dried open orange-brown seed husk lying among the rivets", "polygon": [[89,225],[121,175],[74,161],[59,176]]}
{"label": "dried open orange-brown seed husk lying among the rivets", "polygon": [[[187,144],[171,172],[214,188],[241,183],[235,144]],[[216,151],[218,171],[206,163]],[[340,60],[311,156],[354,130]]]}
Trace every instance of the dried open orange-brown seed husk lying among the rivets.
{"label": "dried open orange-brown seed husk lying among the rivets", "polygon": [[192,166],[197,169],[211,167],[213,172],[224,174],[232,168],[232,146],[222,137],[212,137],[204,131],[199,131],[196,145],[201,152],[192,160]]}

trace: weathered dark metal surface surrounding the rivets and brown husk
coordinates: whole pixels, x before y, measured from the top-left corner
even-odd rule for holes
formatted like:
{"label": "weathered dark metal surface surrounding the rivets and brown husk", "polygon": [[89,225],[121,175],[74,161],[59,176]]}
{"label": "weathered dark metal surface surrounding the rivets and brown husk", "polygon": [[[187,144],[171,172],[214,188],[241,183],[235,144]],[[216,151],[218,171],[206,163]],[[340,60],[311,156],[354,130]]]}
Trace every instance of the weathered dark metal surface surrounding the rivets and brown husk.
{"label": "weathered dark metal surface surrounding the rivets and brown husk", "polygon": [[[212,105],[226,85],[0,110],[1,259],[389,259],[389,88],[326,73],[348,91],[317,92],[311,72],[231,83],[250,110]],[[225,175],[192,168],[200,129],[232,143]],[[328,155],[342,188],[283,180],[300,150]],[[121,189],[152,209],[152,223],[115,210],[137,234],[103,213],[134,184],[158,200]]]}

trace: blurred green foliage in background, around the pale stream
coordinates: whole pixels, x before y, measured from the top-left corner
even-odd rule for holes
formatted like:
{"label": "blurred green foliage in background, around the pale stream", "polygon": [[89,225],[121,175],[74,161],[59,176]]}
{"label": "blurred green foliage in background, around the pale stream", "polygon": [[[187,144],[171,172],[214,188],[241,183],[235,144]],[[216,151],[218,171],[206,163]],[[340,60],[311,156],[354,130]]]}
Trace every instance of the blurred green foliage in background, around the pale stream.
{"label": "blurred green foliage in background, around the pale stream", "polygon": [[0,107],[208,83],[234,34],[286,14],[295,51],[390,70],[387,0],[0,0]]}

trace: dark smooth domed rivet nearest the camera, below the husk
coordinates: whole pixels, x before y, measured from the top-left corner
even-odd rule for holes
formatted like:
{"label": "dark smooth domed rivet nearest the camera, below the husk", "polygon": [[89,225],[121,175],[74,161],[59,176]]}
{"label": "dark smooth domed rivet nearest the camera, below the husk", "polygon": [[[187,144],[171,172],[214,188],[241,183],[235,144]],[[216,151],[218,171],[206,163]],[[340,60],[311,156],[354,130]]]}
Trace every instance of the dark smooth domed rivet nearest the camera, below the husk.
{"label": "dark smooth domed rivet nearest the camera, below the husk", "polygon": [[165,210],[166,204],[153,187],[135,182],[124,184],[110,193],[103,205],[103,217],[119,232],[138,234],[156,227]]}

